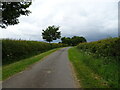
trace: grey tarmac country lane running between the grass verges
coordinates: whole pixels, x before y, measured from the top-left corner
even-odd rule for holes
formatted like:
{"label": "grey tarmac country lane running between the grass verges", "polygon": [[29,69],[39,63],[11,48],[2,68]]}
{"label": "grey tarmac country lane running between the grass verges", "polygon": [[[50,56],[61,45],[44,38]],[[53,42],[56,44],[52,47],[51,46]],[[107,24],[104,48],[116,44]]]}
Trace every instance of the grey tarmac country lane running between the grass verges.
{"label": "grey tarmac country lane running between the grass verges", "polygon": [[62,48],[28,69],[3,81],[3,88],[76,88],[68,60],[68,50]]}

